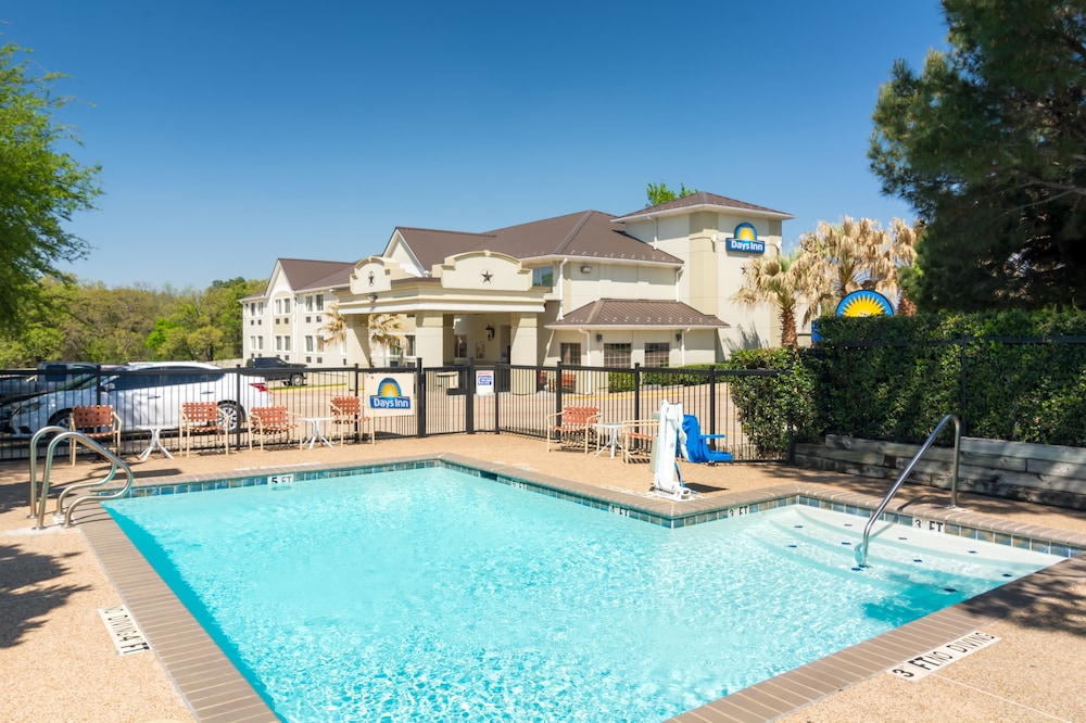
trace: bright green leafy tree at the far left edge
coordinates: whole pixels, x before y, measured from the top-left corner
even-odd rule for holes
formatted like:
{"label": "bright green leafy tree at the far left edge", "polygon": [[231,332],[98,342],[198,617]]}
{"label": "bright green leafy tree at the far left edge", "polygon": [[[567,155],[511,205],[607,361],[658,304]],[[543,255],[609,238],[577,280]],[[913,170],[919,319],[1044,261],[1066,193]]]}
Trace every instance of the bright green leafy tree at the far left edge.
{"label": "bright green leafy tree at the far left edge", "polygon": [[42,278],[65,279],[56,266],[89,246],[64,230],[101,193],[99,166],[80,166],[58,145],[78,139],[54,120],[67,100],[52,93],[56,73],[35,76],[18,46],[0,47],[0,328],[17,329],[49,301]]}

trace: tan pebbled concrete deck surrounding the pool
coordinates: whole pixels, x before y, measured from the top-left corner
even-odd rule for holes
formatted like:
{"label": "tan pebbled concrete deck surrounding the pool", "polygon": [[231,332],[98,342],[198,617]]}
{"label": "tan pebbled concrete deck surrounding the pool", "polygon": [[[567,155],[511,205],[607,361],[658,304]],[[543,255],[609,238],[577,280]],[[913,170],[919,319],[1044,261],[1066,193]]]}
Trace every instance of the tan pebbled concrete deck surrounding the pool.
{"label": "tan pebbled concrete deck surrounding the pool", "polygon": [[[178,475],[228,477],[254,473],[261,468],[302,466],[304,469],[329,462],[455,453],[507,467],[510,474],[518,471],[545,474],[592,485],[608,495],[643,494],[648,489],[652,474],[643,462],[624,465],[606,452],[598,457],[578,452],[548,454],[545,447],[541,440],[512,435],[455,435],[382,440],[376,445],[348,444],[334,448],[279,447],[228,456],[202,454],[188,459],[176,455],[173,460],[155,454],[146,462],[134,461],[132,469],[139,483],[166,483]],[[100,464],[89,461],[75,468],[66,460],[58,461],[53,469],[55,483],[87,479],[92,471],[100,477],[103,469]],[[683,471],[687,483],[705,499],[742,500],[782,484],[817,485],[826,494],[849,496],[881,496],[888,489],[886,481],[781,465],[684,466]],[[78,528],[61,531],[54,527],[30,532],[27,480],[25,462],[0,465],[0,570],[3,571],[0,673],[4,682],[0,720],[242,720],[238,711],[231,714],[225,709],[218,718],[203,710],[199,719],[194,718],[197,708],[190,708],[175,686],[175,682],[180,684],[184,680],[184,673],[174,670],[167,673],[160,658],[151,652],[117,655],[98,610],[128,601],[118,592],[124,581],[116,572],[106,574],[100,561],[103,553],[91,548],[85,531]],[[919,510],[945,505],[947,497],[945,491],[907,485],[892,509]],[[960,495],[959,505],[1008,523],[1086,534],[1086,512],[969,494]],[[77,519],[81,515],[77,513]],[[792,681],[782,683],[783,676],[778,676],[761,689],[756,686],[741,692],[723,699],[721,702],[725,705],[708,706],[680,719],[684,723],[918,718],[1084,721],[1086,696],[1078,692],[1079,671],[1086,662],[1086,560],[1061,563],[1058,570],[1055,574],[1025,579],[1002,596],[992,595],[972,605],[948,609],[950,612],[944,617],[950,619],[950,627],[925,622],[927,618],[918,621],[923,624],[913,625],[920,632],[900,634],[902,639],[897,644],[901,647],[892,646],[888,652],[884,649],[873,657],[846,655],[836,663],[820,661],[806,667],[804,673],[797,672]],[[1018,595],[1011,597],[1010,593]],[[143,622],[138,612],[137,618]],[[957,637],[946,631],[968,632],[967,629],[1000,639],[920,681],[905,681],[882,672]],[[150,632],[149,635],[161,656],[155,635]],[[937,644],[930,644],[933,639]],[[895,657],[897,649],[900,657]],[[880,655],[891,657],[883,659]],[[806,705],[809,700],[816,702]],[[782,712],[797,707],[794,712]]]}

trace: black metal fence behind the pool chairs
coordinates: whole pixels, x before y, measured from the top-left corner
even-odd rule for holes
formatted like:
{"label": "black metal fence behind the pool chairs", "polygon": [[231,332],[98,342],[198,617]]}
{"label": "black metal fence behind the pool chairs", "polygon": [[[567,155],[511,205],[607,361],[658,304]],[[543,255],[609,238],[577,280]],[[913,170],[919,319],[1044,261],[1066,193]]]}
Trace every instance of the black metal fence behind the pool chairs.
{"label": "black metal fence behind the pool chairs", "polygon": [[[98,367],[60,389],[25,383],[0,397],[0,460],[26,459],[31,435],[42,427],[67,427],[75,406],[108,404],[121,419],[122,455],[148,448],[157,428],[167,448],[178,448],[179,411],[185,402],[213,401],[231,420],[230,446],[251,443],[249,420],[255,406],[282,406],[296,427],[281,444],[306,440],[314,424],[327,422],[331,401],[341,395],[412,397],[412,408],[395,416],[375,416],[378,440],[458,433],[520,434],[543,439],[547,424],[564,406],[594,406],[602,422],[648,420],[662,401],[681,403],[698,417],[705,434],[724,434],[718,447],[735,459],[762,460],[780,455],[759,451],[744,431],[730,384],[743,371],[721,369],[601,368],[487,365],[424,367],[310,367],[303,384],[268,380],[243,367],[211,369],[154,366]],[[775,373],[775,372],[761,372]],[[401,376],[403,375],[403,376]],[[11,390],[33,376],[28,370],[0,371],[0,390]],[[13,383],[4,386],[4,382]],[[391,381],[390,381],[391,380]],[[413,390],[395,383],[411,381]],[[365,407],[369,401],[364,399]],[[314,421],[316,420],[316,421]],[[192,448],[211,449],[216,441],[198,436]],[[38,449],[42,454],[45,444]]]}

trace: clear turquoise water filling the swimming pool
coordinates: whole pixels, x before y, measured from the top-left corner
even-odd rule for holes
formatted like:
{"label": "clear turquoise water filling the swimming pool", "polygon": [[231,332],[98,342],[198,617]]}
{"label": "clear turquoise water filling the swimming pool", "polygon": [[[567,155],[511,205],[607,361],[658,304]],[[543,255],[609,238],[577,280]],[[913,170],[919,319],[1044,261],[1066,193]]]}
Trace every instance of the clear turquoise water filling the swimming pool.
{"label": "clear turquoise water filling the swimming pool", "polygon": [[857,571],[866,518],[668,530],[443,468],[106,506],[291,722],[664,720],[1057,560],[884,525]]}

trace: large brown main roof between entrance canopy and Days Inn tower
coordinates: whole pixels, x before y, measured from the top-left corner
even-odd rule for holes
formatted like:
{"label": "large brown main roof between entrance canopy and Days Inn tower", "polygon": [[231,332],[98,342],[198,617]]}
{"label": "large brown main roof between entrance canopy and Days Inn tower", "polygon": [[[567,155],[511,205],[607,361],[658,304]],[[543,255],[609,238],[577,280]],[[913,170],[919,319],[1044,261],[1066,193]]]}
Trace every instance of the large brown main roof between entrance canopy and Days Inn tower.
{"label": "large brown main roof between entrance canopy and Days Inn tower", "polygon": [[629,236],[621,225],[613,223],[614,218],[598,211],[582,211],[485,233],[420,228],[396,230],[427,271],[444,262],[446,256],[466,251],[496,251],[520,261],[560,256],[682,264],[680,258]]}

